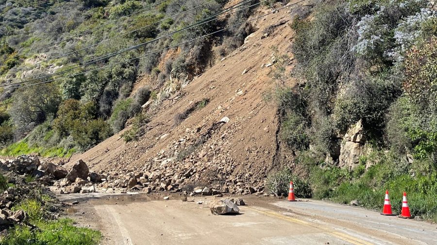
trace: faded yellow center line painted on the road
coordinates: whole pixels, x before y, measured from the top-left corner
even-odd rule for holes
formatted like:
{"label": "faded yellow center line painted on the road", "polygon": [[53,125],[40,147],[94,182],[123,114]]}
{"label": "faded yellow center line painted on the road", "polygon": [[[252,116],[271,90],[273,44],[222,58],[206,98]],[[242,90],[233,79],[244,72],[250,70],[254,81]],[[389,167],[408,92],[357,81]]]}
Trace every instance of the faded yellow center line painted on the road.
{"label": "faded yellow center line painted on the road", "polygon": [[328,233],[332,236],[335,236],[336,238],[339,238],[339,239],[346,241],[348,243],[354,244],[354,245],[372,245],[371,243],[364,241],[364,240],[361,240],[357,237],[353,237],[353,236],[345,234],[343,232],[334,231],[332,229],[314,226],[306,221],[303,221],[303,220],[300,220],[297,218],[287,217],[286,215],[283,215],[283,214],[278,214],[278,213],[272,212],[272,211],[259,210],[259,209],[249,207],[249,206],[246,206],[246,208],[249,208],[249,209],[256,211],[258,213],[261,213],[261,214],[266,214],[266,215],[271,216],[271,217],[277,217],[277,218],[280,218],[280,219],[283,219],[286,221],[290,221],[290,222],[293,222],[296,224],[306,225],[306,226],[310,226],[310,227],[313,227],[313,228],[316,228],[319,230],[324,230],[324,231],[326,231],[326,233]]}

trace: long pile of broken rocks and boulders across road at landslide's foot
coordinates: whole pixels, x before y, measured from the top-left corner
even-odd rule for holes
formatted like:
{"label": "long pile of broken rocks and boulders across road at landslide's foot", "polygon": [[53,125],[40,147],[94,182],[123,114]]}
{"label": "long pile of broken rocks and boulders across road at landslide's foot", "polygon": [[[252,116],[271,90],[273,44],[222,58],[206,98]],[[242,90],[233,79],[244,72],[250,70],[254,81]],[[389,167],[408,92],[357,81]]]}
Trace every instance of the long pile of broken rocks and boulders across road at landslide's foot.
{"label": "long pile of broken rocks and boulders across road at landslide's foot", "polygon": [[[206,187],[206,184],[194,185],[190,181],[196,176],[197,170],[189,168],[184,172],[179,169],[170,172],[161,171],[130,171],[122,174],[116,171],[92,171],[84,161],[77,161],[70,169],[54,164],[50,161],[41,161],[37,156],[19,156],[10,160],[1,160],[1,167],[5,171],[12,171],[22,176],[33,176],[40,184],[50,186],[58,194],[69,193],[125,193],[138,192],[180,192],[186,191],[189,195],[221,197],[222,193],[232,193],[226,185],[216,184]],[[255,190],[248,188],[241,194],[252,194]]]}

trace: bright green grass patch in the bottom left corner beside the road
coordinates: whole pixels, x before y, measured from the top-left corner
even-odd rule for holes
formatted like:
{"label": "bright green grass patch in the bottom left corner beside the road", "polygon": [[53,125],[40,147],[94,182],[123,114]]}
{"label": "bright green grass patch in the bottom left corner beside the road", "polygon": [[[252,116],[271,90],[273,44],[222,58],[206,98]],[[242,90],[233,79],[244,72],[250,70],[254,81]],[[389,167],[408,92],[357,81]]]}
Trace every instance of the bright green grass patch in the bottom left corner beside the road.
{"label": "bright green grass patch in the bottom left corner beside the road", "polygon": [[28,199],[13,210],[24,210],[29,214],[31,224],[37,229],[15,227],[0,241],[0,245],[96,245],[99,244],[101,233],[97,230],[74,226],[74,221],[68,218],[60,220],[44,220],[44,210],[41,203]]}

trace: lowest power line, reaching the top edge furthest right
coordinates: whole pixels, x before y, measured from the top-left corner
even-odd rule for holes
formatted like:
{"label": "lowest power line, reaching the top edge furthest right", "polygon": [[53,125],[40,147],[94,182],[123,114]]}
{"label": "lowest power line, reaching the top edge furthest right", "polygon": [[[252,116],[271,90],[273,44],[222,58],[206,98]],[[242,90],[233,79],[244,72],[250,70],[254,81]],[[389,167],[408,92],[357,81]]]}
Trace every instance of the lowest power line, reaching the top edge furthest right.
{"label": "lowest power line, reaching the top edge furthest right", "polygon": [[[33,83],[33,84],[25,84],[25,85],[23,85],[23,87],[34,86],[34,85],[38,85],[38,84],[50,83],[50,82],[54,82],[54,81],[57,81],[57,80],[60,80],[60,79],[65,79],[65,78],[68,78],[68,77],[75,77],[75,76],[79,76],[79,75],[87,74],[87,73],[90,73],[90,72],[98,71],[98,70],[101,70],[101,69],[105,69],[105,68],[108,68],[108,67],[111,67],[111,66],[114,66],[114,65],[117,65],[117,64],[121,64],[121,63],[123,63],[123,62],[128,62],[128,61],[133,61],[133,60],[136,60],[136,59],[140,59],[140,58],[143,58],[143,57],[146,57],[146,56],[149,56],[149,55],[152,55],[152,54],[158,53],[158,52],[162,52],[162,51],[164,51],[164,50],[166,50],[166,49],[170,49],[170,48],[172,48],[172,47],[176,47],[176,46],[184,45],[184,44],[187,44],[187,43],[190,43],[190,42],[193,42],[193,41],[196,41],[196,40],[202,39],[202,38],[204,38],[204,37],[207,37],[207,36],[210,36],[210,35],[214,35],[214,34],[216,34],[216,33],[218,33],[218,32],[228,30],[228,29],[230,29],[230,28],[233,28],[233,27],[236,27],[236,26],[242,25],[242,24],[244,24],[244,23],[247,23],[247,22],[250,22],[250,21],[253,21],[253,20],[256,20],[256,19],[262,18],[262,17],[265,17],[265,16],[267,16],[267,15],[271,15],[271,14],[273,14],[274,12],[280,11],[280,10],[282,10],[282,9],[284,9],[284,8],[288,8],[288,7],[292,6],[292,5],[298,4],[298,3],[303,2],[303,1],[305,1],[305,0],[300,0],[300,1],[297,1],[297,2],[295,2],[295,3],[287,4],[286,6],[281,7],[281,8],[278,8],[278,9],[276,9],[276,10],[273,10],[273,11],[267,13],[267,14],[260,15],[260,16],[258,16],[258,17],[254,17],[254,18],[252,18],[252,19],[249,19],[249,20],[246,20],[246,21],[243,21],[243,22],[237,23],[237,24],[235,24],[235,25],[232,25],[232,26],[229,26],[229,27],[226,27],[226,28],[220,29],[220,30],[218,30],[218,31],[214,31],[214,32],[211,32],[211,33],[208,33],[208,34],[202,35],[202,36],[200,36],[200,37],[197,37],[197,38],[194,38],[194,39],[191,39],[191,40],[185,41],[185,42],[180,43],[180,44],[177,44],[177,45],[168,46],[168,47],[166,47],[166,48],[163,48],[163,49],[160,49],[160,50],[157,50],[157,51],[154,51],[154,52],[151,52],[151,53],[148,53],[148,54],[142,55],[142,56],[138,56],[138,57],[135,57],[135,58],[132,58],[132,59],[128,59],[128,60],[125,60],[125,61],[119,61],[119,62],[114,63],[114,64],[105,65],[105,66],[102,66],[102,67],[100,67],[100,68],[96,68],[96,69],[92,69],[92,70],[89,70],[89,71],[85,71],[85,72],[81,72],[81,73],[77,73],[77,74],[69,75],[69,76],[67,76],[67,77],[59,77],[59,78],[55,78],[55,79],[48,80],[48,81],[43,81],[43,82],[38,82],[38,83]],[[9,89],[16,89],[16,88],[19,88],[19,87],[20,87],[20,86],[12,87],[12,88],[9,88]]]}

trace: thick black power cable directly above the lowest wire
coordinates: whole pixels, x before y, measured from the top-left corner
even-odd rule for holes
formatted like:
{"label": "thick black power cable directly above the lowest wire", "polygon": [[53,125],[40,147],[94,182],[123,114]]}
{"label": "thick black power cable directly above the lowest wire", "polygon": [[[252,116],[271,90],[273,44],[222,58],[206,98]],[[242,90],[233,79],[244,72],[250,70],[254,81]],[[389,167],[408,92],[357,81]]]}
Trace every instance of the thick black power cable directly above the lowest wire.
{"label": "thick black power cable directly above the lowest wire", "polygon": [[[247,7],[245,7],[245,8],[239,9],[239,10],[234,11],[234,12],[232,12],[232,13],[228,13],[228,14],[226,14],[226,15],[232,15],[232,14],[234,14],[234,13],[237,13],[237,12],[242,11],[242,10],[247,9],[247,8],[251,8],[251,7],[253,7],[253,6],[259,5],[259,4],[261,4],[261,3],[263,3],[263,2],[266,2],[266,1],[267,1],[267,0],[264,0],[264,1],[261,1],[261,2],[255,3],[255,4],[252,4],[252,5],[250,5],[250,6],[247,6]],[[206,19],[211,18],[211,17],[207,17],[207,18],[205,18],[205,19],[203,19],[203,20],[201,20],[201,21],[198,21],[197,23],[199,23],[199,24],[196,24],[196,23],[195,23],[195,24],[190,25],[190,26],[188,26],[188,27],[185,27],[185,28],[183,28],[183,29],[181,29],[181,30],[170,32],[170,33],[168,33],[168,34],[166,34],[166,35],[164,35],[164,36],[161,36],[161,37],[159,37],[159,38],[153,39],[153,40],[151,40],[151,41],[148,41],[148,42],[145,42],[145,43],[142,43],[142,44],[136,45],[136,46],[131,46],[131,47],[128,47],[128,48],[125,48],[125,49],[122,49],[122,50],[118,50],[117,52],[110,53],[110,54],[106,54],[106,55],[103,55],[103,56],[101,56],[101,57],[93,58],[93,59],[99,59],[99,60],[95,60],[95,61],[90,61],[90,60],[88,60],[88,61],[90,61],[90,62],[85,61],[85,62],[87,62],[87,63],[84,63],[84,64],[76,63],[76,64],[80,64],[80,65],[77,66],[77,67],[73,67],[73,68],[70,68],[70,69],[67,69],[67,70],[64,70],[64,71],[61,71],[61,72],[58,72],[58,73],[50,74],[50,75],[47,75],[47,76],[44,76],[44,77],[36,77],[36,78],[29,79],[29,80],[25,80],[25,81],[21,81],[21,82],[13,83],[13,84],[0,85],[0,87],[11,86],[11,85],[15,85],[15,84],[21,84],[21,83],[31,82],[31,81],[35,81],[35,80],[39,80],[39,79],[48,78],[48,77],[54,77],[54,76],[57,76],[57,75],[62,75],[62,74],[65,74],[65,73],[67,73],[67,72],[69,72],[69,71],[72,71],[72,70],[78,69],[78,68],[80,68],[80,67],[83,67],[83,66],[86,66],[86,65],[89,65],[89,64],[93,64],[93,63],[96,63],[96,62],[99,62],[99,61],[103,61],[103,60],[105,60],[105,59],[107,59],[107,58],[111,58],[111,57],[116,56],[116,55],[118,55],[118,54],[121,54],[121,53],[124,53],[124,52],[130,51],[130,50],[136,49],[136,48],[138,48],[138,47],[140,47],[140,46],[144,46],[144,45],[150,44],[150,43],[155,42],[155,41],[157,41],[157,40],[160,40],[160,39],[162,39],[162,38],[164,38],[164,37],[171,36],[171,35],[173,35],[173,34],[175,34],[175,33],[178,33],[178,32],[181,32],[181,31],[186,31],[186,30],[189,30],[189,29],[191,29],[191,28],[201,26],[201,25],[203,25],[203,24],[205,24],[205,23],[208,23],[208,22],[214,21],[214,20],[216,20],[216,19],[218,19],[218,18],[221,18],[221,17],[224,17],[224,16],[226,16],[226,15],[222,15],[222,16],[219,16],[219,17],[217,17],[217,18],[213,18],[213,19],[210,19],[210,20],[208,20],[208,21],[204,21],[204,20],[206,20]],[[216,15],[216,16],[217,16],[217,15]],[[93,60],[93,59],[91,59],[91,60]],[[69,65],[69,66],[67,66],[67,67],[70,67],[70,66],[73,66],[73,65],[76,65],[76,64],[72,64],[72,65]],[[66,68],[66,67],[64,67],[64,68]]]}

